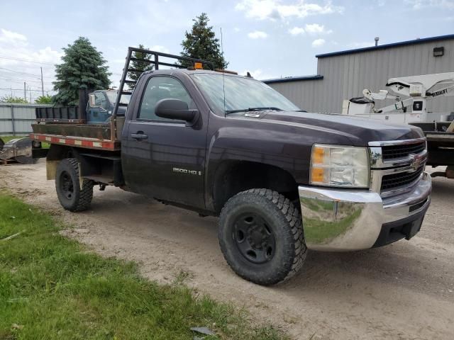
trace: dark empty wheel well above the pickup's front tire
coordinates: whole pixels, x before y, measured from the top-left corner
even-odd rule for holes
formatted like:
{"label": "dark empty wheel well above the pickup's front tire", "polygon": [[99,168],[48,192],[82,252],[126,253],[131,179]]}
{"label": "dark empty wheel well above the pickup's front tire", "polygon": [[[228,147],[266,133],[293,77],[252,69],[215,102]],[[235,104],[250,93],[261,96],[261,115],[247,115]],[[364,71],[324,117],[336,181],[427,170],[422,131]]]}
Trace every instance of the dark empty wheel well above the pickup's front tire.
{"label": "dark empty wheel well above the pickup's front tire", "polygon": [[241,191],[267,188],[281,193],[289,200],[298,199],[298,184],[288,171],[257,162],[224,162],[214,178],[213,198],[217,213],[227,200]]}

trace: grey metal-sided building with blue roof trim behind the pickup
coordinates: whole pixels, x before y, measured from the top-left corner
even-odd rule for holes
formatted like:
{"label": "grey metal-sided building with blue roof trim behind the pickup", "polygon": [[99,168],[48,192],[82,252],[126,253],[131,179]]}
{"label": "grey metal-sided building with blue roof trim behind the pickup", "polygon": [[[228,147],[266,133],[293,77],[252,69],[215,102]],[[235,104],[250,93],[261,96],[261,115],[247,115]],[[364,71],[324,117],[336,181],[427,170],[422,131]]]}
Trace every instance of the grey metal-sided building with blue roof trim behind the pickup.
{"label": "grey metal-sided building with blue roof trim behind the pickup", "polygon": [[[389,78],[454,72],[454,34],[316,55],[317,74],[265,80],[301,109],[341,113],[343,99],[363,89],[384,89]],[[428,111],[454,111],[452,98],[427,104]]]}

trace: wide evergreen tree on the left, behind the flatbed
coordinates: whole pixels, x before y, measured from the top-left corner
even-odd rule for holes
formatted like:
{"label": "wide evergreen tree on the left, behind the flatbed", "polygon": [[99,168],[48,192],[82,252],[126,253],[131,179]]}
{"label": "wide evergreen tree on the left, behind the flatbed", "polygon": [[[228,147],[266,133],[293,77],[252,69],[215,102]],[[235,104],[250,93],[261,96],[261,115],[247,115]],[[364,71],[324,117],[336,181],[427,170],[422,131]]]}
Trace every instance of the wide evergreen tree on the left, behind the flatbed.
{"label": "wide evergreen tree on the left, behind the flatbed", "polygon": [[58,93],[52,98],[55,103],[77,105],[79,89],[108,89],[111,81],[102,53],[84,37],[63,48],[62,64],[55,65],[54,89]]}

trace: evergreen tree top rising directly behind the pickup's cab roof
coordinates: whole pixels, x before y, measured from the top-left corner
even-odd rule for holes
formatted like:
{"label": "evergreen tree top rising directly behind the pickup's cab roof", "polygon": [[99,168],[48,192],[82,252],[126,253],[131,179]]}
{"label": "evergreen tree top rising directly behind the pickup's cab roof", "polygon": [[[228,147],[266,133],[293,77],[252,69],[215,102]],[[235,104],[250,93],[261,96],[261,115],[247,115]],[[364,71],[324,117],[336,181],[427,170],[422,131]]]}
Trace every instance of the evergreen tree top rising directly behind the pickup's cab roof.
{"label": "evergreen tree top rising directly behind the pickup's cab roof", "polygon": [[[213,26],[208,26],[209,18],[206,13],[197,16],[192,25],[192,30],[184,34],[186,38],[182,42],[183,57],[208,60],[214,63],[215,69],[225,69],[228,62],[224,59],[219,46],[219,39],[213,31]],[[181,62],[184,66],[193,66],[190,62]]]}

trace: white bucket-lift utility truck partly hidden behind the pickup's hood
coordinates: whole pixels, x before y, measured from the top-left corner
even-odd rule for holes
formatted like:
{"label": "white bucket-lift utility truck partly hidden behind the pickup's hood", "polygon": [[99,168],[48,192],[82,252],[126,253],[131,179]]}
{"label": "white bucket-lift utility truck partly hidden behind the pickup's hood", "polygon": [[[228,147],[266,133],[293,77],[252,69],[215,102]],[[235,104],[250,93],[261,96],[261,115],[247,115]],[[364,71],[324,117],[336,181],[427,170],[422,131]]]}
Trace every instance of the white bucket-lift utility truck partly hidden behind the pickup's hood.
{"label": "white bucket-lift utility truck partly hidden behind the pickup's hood", "polygon": [[[454,179],[454,112],[428,110],[429,103],[454,96],[454,72],[391,78],[386,88],[377,93],[365,89],[363,97],[343,101],[343,114],[405,122],[421,128],[428,145],[426,164],[446,166],[445,171],[432,172],[431,176]],[[378,105],[385,100],[393,103]]]}

